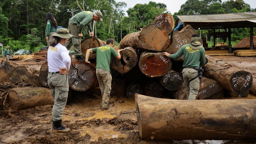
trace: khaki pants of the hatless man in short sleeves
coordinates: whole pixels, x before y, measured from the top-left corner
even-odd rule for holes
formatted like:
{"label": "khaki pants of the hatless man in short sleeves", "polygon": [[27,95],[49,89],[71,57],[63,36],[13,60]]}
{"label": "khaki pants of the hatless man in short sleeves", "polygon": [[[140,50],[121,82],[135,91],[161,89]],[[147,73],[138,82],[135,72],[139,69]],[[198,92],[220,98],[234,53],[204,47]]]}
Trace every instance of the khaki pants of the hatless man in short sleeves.
{"label": "khaki pants of the hatless man in short sleeves", "polygon": [[106,108],[110,99],[112,76],[110,71],[102,68],[96,68],[96,76],[100,85],[102,108]]}

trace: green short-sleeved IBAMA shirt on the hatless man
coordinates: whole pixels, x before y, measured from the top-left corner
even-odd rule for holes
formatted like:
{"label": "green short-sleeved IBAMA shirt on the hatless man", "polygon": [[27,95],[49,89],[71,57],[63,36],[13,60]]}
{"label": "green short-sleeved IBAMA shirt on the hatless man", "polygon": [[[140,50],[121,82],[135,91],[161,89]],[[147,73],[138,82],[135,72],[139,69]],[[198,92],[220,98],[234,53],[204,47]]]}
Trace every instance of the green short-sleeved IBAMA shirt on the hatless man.
{"label": "green short-sleeved IBAMA shirt on the hatless man", "polygon": [[92,48],[92,53],[97,53],[96,68],[102,68],[110,71],[111,56],[117,57],[118,54],[113,47],[108,45]]}

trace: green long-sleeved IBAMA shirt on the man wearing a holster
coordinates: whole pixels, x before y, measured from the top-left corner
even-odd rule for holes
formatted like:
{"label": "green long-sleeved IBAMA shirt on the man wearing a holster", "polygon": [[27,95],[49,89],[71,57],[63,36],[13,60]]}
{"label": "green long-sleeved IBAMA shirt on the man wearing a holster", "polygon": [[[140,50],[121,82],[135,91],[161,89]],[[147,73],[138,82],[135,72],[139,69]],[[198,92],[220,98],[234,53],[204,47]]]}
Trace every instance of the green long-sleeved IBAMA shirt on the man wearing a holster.
{"label": "green long-sleeved IBAMA shirt on the man wearing a holster", "polygon": [[172,59],[178,59],[184,55],[183,68],[186,66],[202,66],[205,64],[205,49],[192,49],[189,44],[183,45],[175,54],[169,55]]}

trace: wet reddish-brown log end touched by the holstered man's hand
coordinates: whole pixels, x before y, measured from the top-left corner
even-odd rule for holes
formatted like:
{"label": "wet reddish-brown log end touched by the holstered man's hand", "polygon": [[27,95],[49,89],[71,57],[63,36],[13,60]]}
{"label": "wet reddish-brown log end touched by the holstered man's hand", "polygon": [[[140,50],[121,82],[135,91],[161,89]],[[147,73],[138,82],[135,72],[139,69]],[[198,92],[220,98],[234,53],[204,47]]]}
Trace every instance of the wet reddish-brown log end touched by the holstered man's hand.
{"label": "wet reddish-brown log end touched by the holstered man's hand", "polygon": [[172,62],[169,57],[162,53],[141,53],[139,68],[148,77],[164,76],[171,68]]}

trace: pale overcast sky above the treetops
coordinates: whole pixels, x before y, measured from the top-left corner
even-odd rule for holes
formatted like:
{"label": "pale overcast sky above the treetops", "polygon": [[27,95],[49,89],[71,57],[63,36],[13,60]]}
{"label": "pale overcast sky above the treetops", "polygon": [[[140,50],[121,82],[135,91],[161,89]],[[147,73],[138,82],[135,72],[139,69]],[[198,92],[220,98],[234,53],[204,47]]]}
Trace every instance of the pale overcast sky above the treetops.
{"label": "pale overcast sky above the treetops", "polygon": [[[149,1],[155,1],[156,3],[164,3],[167,6],[167,11],[170,11],[172,14],[174,12],[178,12],[180,9],[180,6],[184,4],[187,0],[116,0],[117,2],[123,1],[127,3],[127,7],[123,8],[124,11],[127,11],[128,8],[133,7],[137,3],[148,3]],[[222,0],[227,1],[227,0]],[[251,8],[256,8],[256,0],[243,0],[245,3],[249,4]],[[126,16],[127,13],[125,12]]]}

